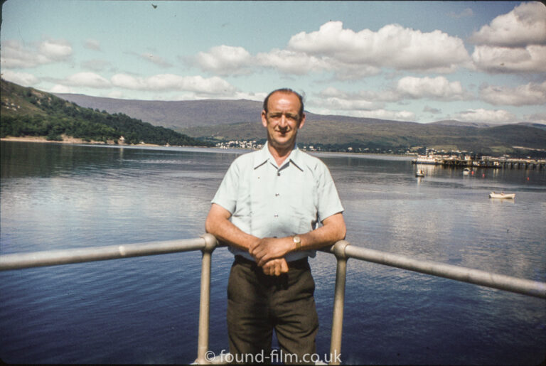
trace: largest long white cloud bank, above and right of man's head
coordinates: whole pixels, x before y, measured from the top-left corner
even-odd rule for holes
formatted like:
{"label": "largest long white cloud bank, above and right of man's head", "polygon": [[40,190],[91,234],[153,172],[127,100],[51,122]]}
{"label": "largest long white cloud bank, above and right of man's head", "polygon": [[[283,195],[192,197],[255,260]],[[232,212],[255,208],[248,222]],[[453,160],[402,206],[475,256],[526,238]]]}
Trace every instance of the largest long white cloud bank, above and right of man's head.
{"label": "largest long white cloud bank, above and right of man's head", "polygon": [[273,68],[292,75],[333,72],[338,80],[378,75],[381,68],[453,72],[469,65],[460,38],[441,31],[422,33],[397,24],[377,32],[343,29],[341,21],[324,23],[319,31],[292,36],[286,49],[251,55],[245,48],[220,45],[200,52],[197,65],[216,75],[250,74],[253,68]]}

